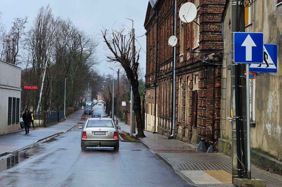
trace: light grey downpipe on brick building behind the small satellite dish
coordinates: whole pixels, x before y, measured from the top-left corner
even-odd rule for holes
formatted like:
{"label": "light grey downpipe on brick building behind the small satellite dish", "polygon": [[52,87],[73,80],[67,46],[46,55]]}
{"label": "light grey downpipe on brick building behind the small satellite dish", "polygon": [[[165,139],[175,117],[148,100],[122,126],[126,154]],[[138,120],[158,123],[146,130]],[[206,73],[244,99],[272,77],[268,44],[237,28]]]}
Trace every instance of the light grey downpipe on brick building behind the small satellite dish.
{"label": "light grey downpipe on brick building behind the small satellite dish", "polygon": [[[177,27],[177,0],[174,1],[174,35],[176,36],[176,27]],[[176,75],[175,75],[175,66],[176,66],[176,46],[173,49],[173,112],[172,112],[172,126],[171,126],[171,135],[168,137],[169,139],[174,138],[174,127],[175,127],[175,84],[176,84]]]}

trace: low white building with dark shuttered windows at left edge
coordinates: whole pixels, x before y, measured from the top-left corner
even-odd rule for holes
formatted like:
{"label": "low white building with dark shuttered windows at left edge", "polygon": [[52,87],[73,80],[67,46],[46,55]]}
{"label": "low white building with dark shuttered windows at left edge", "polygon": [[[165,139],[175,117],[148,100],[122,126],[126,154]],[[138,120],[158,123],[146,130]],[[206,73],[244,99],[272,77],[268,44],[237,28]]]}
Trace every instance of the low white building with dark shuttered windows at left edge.
{"label": "low white building with dark shuttered windows at left edge", "polygon": [[21,68],[0,60],[0,134],[19,130]]}

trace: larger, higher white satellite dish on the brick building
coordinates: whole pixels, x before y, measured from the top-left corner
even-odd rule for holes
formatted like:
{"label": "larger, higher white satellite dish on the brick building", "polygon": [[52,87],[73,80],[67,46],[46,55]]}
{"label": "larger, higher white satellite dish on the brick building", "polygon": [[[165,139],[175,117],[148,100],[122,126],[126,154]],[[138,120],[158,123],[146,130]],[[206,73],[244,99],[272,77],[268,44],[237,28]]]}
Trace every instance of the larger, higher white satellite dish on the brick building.
{"label": "larger, higher white satellite dish on the brick building", "polygon": [[197,16],[197,7],[193,3],[185,3],[179,9],[179,18],[185,23],[190,23]]}

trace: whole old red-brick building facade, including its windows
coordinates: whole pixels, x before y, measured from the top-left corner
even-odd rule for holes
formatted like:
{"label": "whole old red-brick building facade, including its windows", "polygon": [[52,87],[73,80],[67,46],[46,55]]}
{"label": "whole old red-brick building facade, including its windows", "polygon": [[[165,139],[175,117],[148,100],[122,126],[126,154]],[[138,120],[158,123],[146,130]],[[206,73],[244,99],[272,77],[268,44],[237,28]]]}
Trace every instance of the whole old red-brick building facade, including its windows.
{"label": "whole old red-brick building facade, including its windows", "polygon": [[[146,103],[155,105],[151,96],[155,96],[156,85],[156,127],[158,133],[165,135],[171,131],[173,48],[168,45],[168,39],[173,35],[173,2],[158,0],[154,8],[148,4],[144,24],[147,31]],[[220,136],[223,49],[220,20],[225,1],[178,0],[177,10],[186,2],[196,5],[195,22],[199,25],[181,22],[177,16],[175,134],[177,139],[193,143],[198,143],[201,137],[208,142],[216,141]],[[151,109],[146,107],[146,113]]]}

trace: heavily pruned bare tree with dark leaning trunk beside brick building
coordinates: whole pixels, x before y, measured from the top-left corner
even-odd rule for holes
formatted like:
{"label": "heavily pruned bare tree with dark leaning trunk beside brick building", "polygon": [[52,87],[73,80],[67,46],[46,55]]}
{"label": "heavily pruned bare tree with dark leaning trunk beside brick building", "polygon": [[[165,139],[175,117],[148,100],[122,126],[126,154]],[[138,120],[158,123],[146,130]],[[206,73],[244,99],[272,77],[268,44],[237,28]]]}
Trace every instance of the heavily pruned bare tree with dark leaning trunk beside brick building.
{"label": "heavily pruned bare tree with dark leaning trunk beside brick building", "polygon": [[[123,30],[113,31],[112,35],[107,36],[107,30],[102,31],[104,42],[111,51],[107,56],[109,62],[118,62],[125,70],[126,76],[130,81],[133,92],[133,110],[136,116],[136,126],[138,133],[136,137],[146,137],[142,127],[141,98],[139,94],[138,67],[139,51],[131,53],[132,39],[122,34]],[[135,58],[137,56],[137,58]],[[133,62],[131,64],[131,62]]]}

